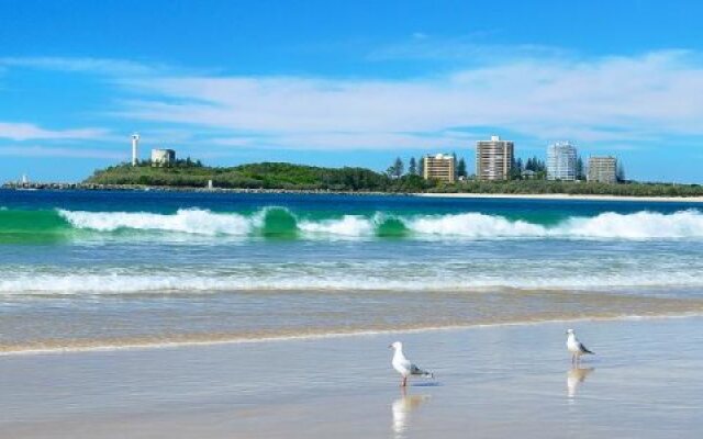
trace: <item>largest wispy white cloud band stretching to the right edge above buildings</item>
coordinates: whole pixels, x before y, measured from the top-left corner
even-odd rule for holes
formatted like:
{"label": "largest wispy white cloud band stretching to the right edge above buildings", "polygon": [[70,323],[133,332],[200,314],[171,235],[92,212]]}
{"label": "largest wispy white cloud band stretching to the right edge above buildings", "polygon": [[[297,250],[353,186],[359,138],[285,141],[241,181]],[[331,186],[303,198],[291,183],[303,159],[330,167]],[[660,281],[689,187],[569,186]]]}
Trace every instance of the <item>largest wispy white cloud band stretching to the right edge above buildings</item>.
{"label": "largest wispy white cloud band stretching to the right edge above buildings", "polygon": [[121,114],[252,133],[292,148],[432,147],[453,130],[486,126],[545,142],[702,135],[703,67],[695,57],[669,50],[533,58],[401,80],[135,78],[125,83],[149,99],[125,101]]}

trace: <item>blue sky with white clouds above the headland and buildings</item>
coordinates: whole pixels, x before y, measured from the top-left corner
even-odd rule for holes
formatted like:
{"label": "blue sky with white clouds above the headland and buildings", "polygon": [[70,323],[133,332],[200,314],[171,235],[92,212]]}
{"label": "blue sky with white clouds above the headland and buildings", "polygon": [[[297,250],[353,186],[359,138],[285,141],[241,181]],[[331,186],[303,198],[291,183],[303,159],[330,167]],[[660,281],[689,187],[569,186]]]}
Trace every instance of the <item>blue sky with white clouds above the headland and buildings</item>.
{"label": "blue sky with white clouds above the headland and buildings", "polygon": [[700,1],[0,0],[0,180],[171,147],[382,170],[498,134],[703,182]]}

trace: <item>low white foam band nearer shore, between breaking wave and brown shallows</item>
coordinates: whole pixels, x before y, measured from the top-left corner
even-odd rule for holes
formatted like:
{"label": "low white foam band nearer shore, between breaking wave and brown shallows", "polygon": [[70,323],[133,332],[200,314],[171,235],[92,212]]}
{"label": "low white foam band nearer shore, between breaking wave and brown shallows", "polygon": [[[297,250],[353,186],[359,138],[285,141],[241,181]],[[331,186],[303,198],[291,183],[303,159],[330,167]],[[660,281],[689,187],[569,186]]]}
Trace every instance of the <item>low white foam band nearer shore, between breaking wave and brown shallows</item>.
{"label": "low white foam band nearer shore, between breaking wave and brown shallows", "polygon": [[[435,273],[436,274],[436,273]],[[211,273],[130,274],[13,274],[0,279],[0,295],[32,294],[121,294],[121,293],[208,293],[224,291],[487,291],[493,289],[610,290],[618,288],[703,286],[696,271],[591,272],[558,275],[514,273],[496,275],[447,272],[444,275],[411,272],[378,274],[345,273],[326,275],[297,270],[275,274],[213,275]]]}

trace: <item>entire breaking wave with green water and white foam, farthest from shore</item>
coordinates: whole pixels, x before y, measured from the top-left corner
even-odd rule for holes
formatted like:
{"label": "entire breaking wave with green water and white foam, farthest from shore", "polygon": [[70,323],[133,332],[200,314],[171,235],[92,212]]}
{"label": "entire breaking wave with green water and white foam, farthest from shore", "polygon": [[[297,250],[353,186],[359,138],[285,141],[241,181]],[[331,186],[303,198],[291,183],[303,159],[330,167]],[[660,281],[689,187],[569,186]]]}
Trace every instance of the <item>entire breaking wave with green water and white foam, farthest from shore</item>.
{"label": "entire breaking wave with green water and white foam, farthest from shore", "polygon": [[414,239],[698,239],[703,238],[703,214],[689,210],[671,214],[606,212],[539,223],[482,213],[420,215],[377,212],[369,215],[324,217],[266,207],[252,213],[223,213],[200,209],[175,213],[0,211],[0,239],[4,236],[125,233],[188,234],[234,237],[357,239],[403,237]]}

